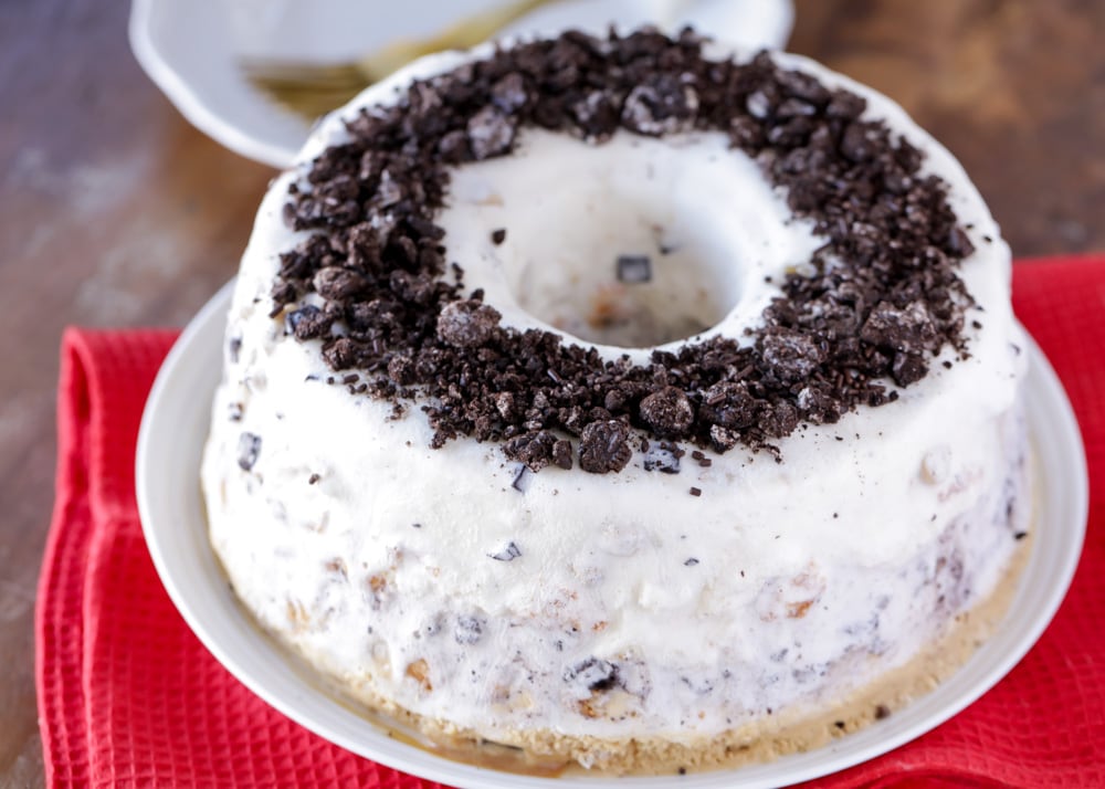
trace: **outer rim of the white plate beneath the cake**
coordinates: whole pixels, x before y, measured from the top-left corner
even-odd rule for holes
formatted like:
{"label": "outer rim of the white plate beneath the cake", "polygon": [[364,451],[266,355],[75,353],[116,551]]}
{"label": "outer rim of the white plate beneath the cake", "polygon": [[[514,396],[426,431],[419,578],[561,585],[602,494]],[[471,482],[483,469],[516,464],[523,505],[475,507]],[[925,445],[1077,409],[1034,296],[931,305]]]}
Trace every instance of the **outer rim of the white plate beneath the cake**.
{"label": "outer rim of the white plate beneath the cake", "polygon": [[[398,770],[412,775],[442,781],[457,787],[529,787],[532,789],[550,789],[554,787],[610,787],[617,783],[620,787],[633,789],[648,789],[651,787],[667,786],[671,776],[657,777],[613,777],[613,776],[566,776],[560,778],[541,778],[533,776],[522,776],[513,772],[504,772],[473,765],[467,765],[448,759],[431,751],[407,745],[387,736],[378,723],[373,723],[369,715],[354,713],[347,705],[340,704],[332,694],[320,693],[320,688],[313,686],[302,673],[302,670],[294,666],[295,656],[280,646],[270,637],[263,634],[259,627],[254,625],[254,637],[263,639],[267,649],[275,653],[278,661],[286,664],[286,667],[294,675],[294,680],[299,683],[298,687],[293,687],[288,692],[274,690],[269,686],[265,677],[256,672],[256,664],[250,666],[243,663],[242,650],[250,655],[253,638],[249,634],[245,640],[236,643],[227,641],[217,635],[202,616],[197,611],[196,590],[189,585],[194,585],[197,579],[187,578],[182,570],[170,556],[169,547],[165,543],[165,535],[159,525],[165,518],[158,518],[156,497],[156,481],[158,470],[151,465],[156,456],[160,432],[175,432],[176,423],[172,428],[162,427],[166,412],[166,403],[172,402],[173,386],[178,378],[188,377],[188,365],[196,358],[217,354],[219,365],[218,378],[222,372],[222,327],[224,326],[231,294],[234,287],[234,280],[228,282],[212,298],[203,306],[196,317],[188,324],[180,337],[169,350],[165,361],[158,370],[157,377],[150,389],[146,407],[143,412],[141,423],[138,432],[138,443],[135,455],[135,487],[138,504],[139,519],[154,567],[162,586],[169,595],[175,608],[180,612],[189,629],[197,635],[203,646],[222,664],[239,682],[244,684],[251,692],[260,696],[266,704],[277,709],[297,724],[308,730],[345,748],[358,756],[368,758],[387,765]],[[992,688],[1015,666],[1028,652],[1035,645],[1043,631],[1054,619],[1062,601],[1065,599],[1070,586],[1073,581],[1078,559],[1082,555],[1082,547],[1085,539],[1086,519],[1088,516],[1088,475],[1086,467],[1085,449],[1082,441],[1081,431],[1074,417],[1070,400],[1063,389],[1059,377],[1048,361],[1043,351],[1031,338],[1028,332],[1021,329],[1024,338],[1024,349],[1029,356],[1029,374],[1025,383],[1025,392],[1029,400],[1041,400],[1046,402],[1050,413],[1046,418],[1029,413],[1030,435],[1033,441],[1034,454],[1036,456],[1036,474],[1044,490],[1040,519],[1055,507],[1061,507],[1065,516],[1065,527],[1057,529],[1064,537],[1064,544],[1057,548],[1057,558],[1053,557],[1057,564],[1050,569],[1050,577],[1059,582],[1050,583],[1044,593],[1036,595],[1033,604],[1034,617],[1024,625],[1019,624],[1013,619],[1013,611],[1018,601],[1025,595],[1028,583],[1031,580],[1030,571],[1045,556],[1042,551],[1046,545],[1041,534],[1046,534],[1040,526],[1036,526],[1036,534],[1033,535],[1031,554],[1028,558],[1027,567],[1022,577],[1018,580],[1018,588],[1010,611],[1002,618],[997,627],[993,637],[983,644],[968,662],[958,669],[948,680],[941,683],[935,691],[913,702],[908,707],[901,711],[886,722],[875,724],[846,737],[833,740],[832,743],[806,754],[794,754],[782,757],[776,761],[750,765],[729,770],[716,770],[711,772],[692,774],[681,778],[681,786],[687,787],[745,787],[756,789],[758,787],[779,786],[781,782],[790,783],[809,780],[821,776],[830,775],[859,764],[863,764],[873,758],[877,758],[902,745],[916,739],[923,734],[936,728],[962,709],[976,702],[986,692]],[[210,335],[220,338],[219,344],[213,349],[202,345]],[[210,370],[208,370],[210,377]],[[192,374],[194,377],[194,374]],[[203,422],[210,418],[210,397],[190,398],[191,411],[202,412]],[[1049,429],[1048,442],[1038,440],[1040,424],[1043,421]],[[206,439],[206,431],[194,438],[201,445]],[[194,449],[194,448],[193,448]],[[199,450],[197,450],[198,454]],[[1049,467],[1049,461],[1057,461],[1060,466]],[[192,469],[193,490],[197,499],[199,498],[198,469]],[[1060,480],[1061,477],[1061,480]],[[1055,490],[1061,487],[1063,496],[1056,496]],[[1059,501],[1062,498],[1062,501]],[[194,524],[193,524],[194,525]],[[194,535],[192,535],[194,538]],[[201,539],[192,541],[200,546],[206,546],[210,558],[214,559],[210,544],[207,541],[206,526],[199,529]],[[1057,540],[1057,537],[1053,539]],[[1054,546],[1052,546],[1054,547]],[[200,551],[203,547],[200,547]],[[215,560],[217,562],[217,560]],[[201,579],[202,580],[202,579]],[[225,580],[225,579],[223,579]],[[229,585],[224,591],[229,596]],[[202,589],[200,589],[202,592]],[[210,590],[209,590],[210,591]],[[235,608],[232,618],[245,618],[244,610],[234,603]],[[1001,633],[1008,633],[1010,629],[1018,632],[1011,649],[998,651],[988,650],[988,645],[993,645]],[[245,645],[243,648],[243,644]],[[977,667],[983,656],[989,656],[990,652],[997,652],[997,658],[991,659],[985,670],[981,681],[968,684],[962,692],[953,699],[944,703],[933,699],[940,695],[941,688],[955,690],[957,678],[967,676],[970,669]],[[253,655],[256,656],[255,654]],[[269,655],[270,658],[273,655]],[[311,711],[304,706],[304,695],[322,695],[324,707],[334,705],[340,707],[345,715],[356,717],[364,723],[366,733],[371,732],[375,736],[369,736],[367,740],[351,738],[340,730],[329,725],[326,720],[318,719]],[[945,694],[946,695],[946,694]],[[313,702],[317,698],[312,699]],[[924,715],[924,707],[934,706],[936,709]],[[909,711],[914,709],[911,715]],[[903,718],[905,723],[903,724]],[[917,718],[912,720],[912,718]],[[869,741],[870,740],[870,741]]]}

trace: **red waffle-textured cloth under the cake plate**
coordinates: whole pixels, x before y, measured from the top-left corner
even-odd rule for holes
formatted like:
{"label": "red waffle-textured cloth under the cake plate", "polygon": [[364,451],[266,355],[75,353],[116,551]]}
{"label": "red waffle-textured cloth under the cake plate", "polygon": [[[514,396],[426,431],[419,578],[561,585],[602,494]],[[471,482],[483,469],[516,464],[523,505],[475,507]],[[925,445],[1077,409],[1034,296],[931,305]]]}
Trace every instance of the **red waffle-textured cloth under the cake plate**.
{"label": "red waffle-textured cloth under the cake plate", "polygon": [[[1105,256],[1019,265],[1014,306],[1066,387],[1090,461],[1074,586],[997,687],[892,754],[811,786],[1105,786]],[[200,645],[154,571],[134,494],[149,386],[175,333],[71,329],[36,677],[52,786],[436,786],[308,733]]]}

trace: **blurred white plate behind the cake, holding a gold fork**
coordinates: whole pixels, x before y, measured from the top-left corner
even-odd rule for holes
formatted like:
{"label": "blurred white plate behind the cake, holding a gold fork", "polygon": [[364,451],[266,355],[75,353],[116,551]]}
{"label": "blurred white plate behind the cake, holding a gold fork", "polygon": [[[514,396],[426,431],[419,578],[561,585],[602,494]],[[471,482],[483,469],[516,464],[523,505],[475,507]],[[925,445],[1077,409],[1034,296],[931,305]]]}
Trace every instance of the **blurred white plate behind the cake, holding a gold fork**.
{"label": "blurred white plate behind the cake, holding a gold fork", "polygon": [[[180,113],[250,159],[284,168],[309,124],[253,88],[242,57],[332,63],[388,41],[424,38],[506,0],[133,0],[130,48]],[[692,24],[746,50],[780,49],[793,21],[791,0],[561,0],[512,24],[514,33],[569,27],[601,33],[655,22]]]}

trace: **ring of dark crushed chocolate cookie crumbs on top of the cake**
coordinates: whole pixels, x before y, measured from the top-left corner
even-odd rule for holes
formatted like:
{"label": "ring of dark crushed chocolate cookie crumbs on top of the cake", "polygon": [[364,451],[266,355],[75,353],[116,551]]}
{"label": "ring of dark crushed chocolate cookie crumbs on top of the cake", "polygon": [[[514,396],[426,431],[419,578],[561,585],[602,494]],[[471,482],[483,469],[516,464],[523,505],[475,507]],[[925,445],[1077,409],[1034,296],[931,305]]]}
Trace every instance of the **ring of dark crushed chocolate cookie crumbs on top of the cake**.
{"label": "ring of dark crushed chocolate cookie crumbs on top of the cake", "polygon": [[[420,401],[433,446],[497,441],[536,472],[570,469],[575,439],[593,473],[630,462],[631,430],[772,449],[802,421],[896,399],[893,385],[919,380],[948,345],[965,351],[971,299],[956,269],[971,243],[922,152],[864,109],[768,54],[709,60],[688,31],[569,32],[497,51],[362,109],[349,139],[304,171],[284,219],[311,235],[281,256],[273,317],[320,340],[336,372],[359,370],[357,392]],[[649,365],[503,326],[481,291],[464,292],[463,261],[446,271],[434,217],[450,168],[508,156],[526,127],[581,145],[618,130],[724,132],[824,238],[812,273],[787,276],[744,347],[714,337]],[[323,306],[305,304],[309,293]]]}

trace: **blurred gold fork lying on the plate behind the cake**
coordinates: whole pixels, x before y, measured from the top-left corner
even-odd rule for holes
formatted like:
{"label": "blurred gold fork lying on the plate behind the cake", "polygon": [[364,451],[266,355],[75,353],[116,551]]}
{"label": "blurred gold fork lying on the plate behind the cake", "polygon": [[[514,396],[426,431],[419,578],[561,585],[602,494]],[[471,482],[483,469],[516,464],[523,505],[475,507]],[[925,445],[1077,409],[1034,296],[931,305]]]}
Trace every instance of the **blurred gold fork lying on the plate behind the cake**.
{"label": "blurred gold fork lying on the plate behind the cake", "polygon": [[281,106],[307,120],[340,107],[362,90],[432,52],[467,49],[511,22],[557,0],[515,0],[453,23],[429,39],[394,41],[357,61],[306,63],[267,59],[240,62],[245,78]]}

